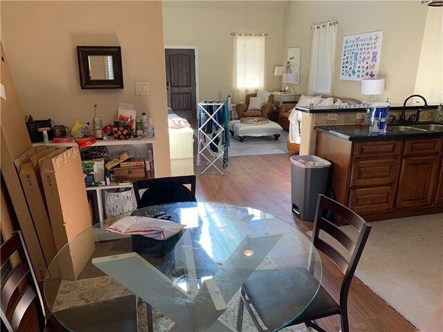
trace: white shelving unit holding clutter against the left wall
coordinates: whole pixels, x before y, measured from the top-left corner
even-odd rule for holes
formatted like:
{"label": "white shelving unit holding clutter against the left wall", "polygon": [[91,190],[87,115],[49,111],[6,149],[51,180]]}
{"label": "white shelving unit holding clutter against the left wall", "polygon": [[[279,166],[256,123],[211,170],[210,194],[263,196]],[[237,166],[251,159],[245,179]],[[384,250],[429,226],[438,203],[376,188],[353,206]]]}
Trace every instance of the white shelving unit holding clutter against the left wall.
{"label": "white shelving unit holding clutter against the left wall", "polygon": [[[97,140],[93,145],[89,145],[89,147],[99,147],[105,146],[108,148],[109,153],[114,153],[117,151],[132,149],[136,156],[147,156],[147,150],[149,148],[154,151],[154,144],[157,140],[154,138],[140,138],[136,140]],[[36,147],[38,145],[46,145],[46,147],[75,147],[78,146],[76,142],[69,143],[54,143],[49,141],[48,144],[44,142],[34,143],[33,146]],[[87,149],[89,147],[85,147]],[[154,167],[155,172],[155,167]],[[103,190],[108,189],[116,189],[116,188],[125,188],[132,187],[132,183],[111,183],[110,185],[99,185],[96,187],[86,187],[87,192],[96,192],[96,204],[98,210],[98,219],[99,221],[103,221],[105,219],[104,207],[103,207]]]}

